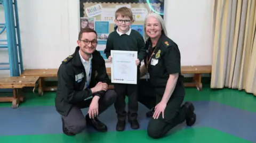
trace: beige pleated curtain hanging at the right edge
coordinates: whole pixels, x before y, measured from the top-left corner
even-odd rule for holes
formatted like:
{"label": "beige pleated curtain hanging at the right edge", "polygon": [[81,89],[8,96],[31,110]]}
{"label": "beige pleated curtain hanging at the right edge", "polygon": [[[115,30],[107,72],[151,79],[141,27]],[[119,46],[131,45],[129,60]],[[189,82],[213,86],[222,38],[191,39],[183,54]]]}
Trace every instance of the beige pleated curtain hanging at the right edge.
{"label": "beige pleated curtain hanging at the right edge", "polygon": [[256,96],[256,1],[213,0],[211,88]]}

